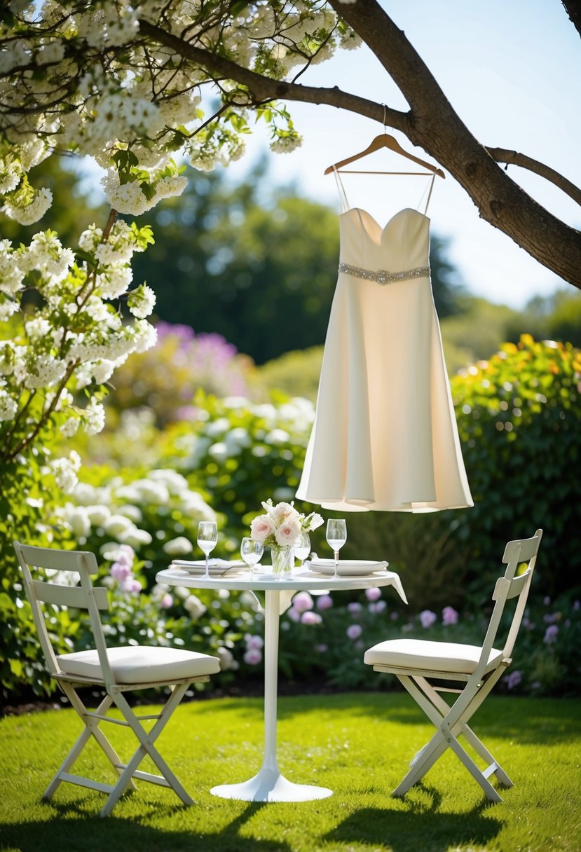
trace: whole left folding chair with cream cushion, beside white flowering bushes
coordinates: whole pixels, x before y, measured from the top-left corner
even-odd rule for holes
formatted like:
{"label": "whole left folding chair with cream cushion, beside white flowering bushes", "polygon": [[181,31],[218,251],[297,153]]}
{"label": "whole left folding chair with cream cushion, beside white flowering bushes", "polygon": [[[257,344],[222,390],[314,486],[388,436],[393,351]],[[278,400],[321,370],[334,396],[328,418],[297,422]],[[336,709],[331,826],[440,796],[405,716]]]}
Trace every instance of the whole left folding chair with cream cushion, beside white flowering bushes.
{"label": "whole left folding chair with cream cushion, beside white flowering bushes", "polygon": [[[220,671],[219,660],[205,653],[179,648],[148,648],[143,645],[106,648],[100,611],[108,609],[107,591],[105,588],[94,587],[91,583],[90,575],[97,572],[94,554],[81,550],[30,547],[19,542],[14,542],[14,549],[20,561],[26,594],[50,675],[58,682],[84,724],[83,733],[51,780],[43,798],[52,798],[63,781],[89,787],[109,794],[100,814],[106,816],[111,813],[126,789],[136,789],[133,779],[139,779],[171,787],[183,803],[193,804],[193,799],[181,786],[154,743],[189,685],[210,680],[210,675]],[[75,573],[80,578],[80,585],[73,585],[78,582]],[[95,648],[73,653],[55,653],[46,621],[51,606],[88,610]],[[83,687],[100,687],[105,693],[94,712],[89,711],[79,697],[77,690]],[[163,709],[155,715],[136,716],[124,693],[159,687],[170,687],[171,690]],[[118,707],[124,721],[107,716],[112,705]],[[149,732],[141,724],[147,719],[157,720]],[[106,739],[99,727],[101,722],[123,725],[134,732],[139,746],[128,763],[121,761]],[[101,746],[118,774],[116,784],[101,784],[100,781],[70,772],[91,737]],[[146,755],[151,757],[160,775],[139,771],[138,767]]]}

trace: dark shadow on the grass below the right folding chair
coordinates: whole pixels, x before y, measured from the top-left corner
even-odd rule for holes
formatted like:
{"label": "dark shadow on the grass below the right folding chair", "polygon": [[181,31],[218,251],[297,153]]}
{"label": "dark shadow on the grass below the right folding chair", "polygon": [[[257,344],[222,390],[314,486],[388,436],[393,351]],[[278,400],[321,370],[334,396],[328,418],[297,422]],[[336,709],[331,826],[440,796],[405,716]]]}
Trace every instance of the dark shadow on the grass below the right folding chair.
{"label": "dark shadow on the grass below the right folding chair", "polygon": [[341,843],[350,849],[353,843],[368,843],[370,849],[393,852],[486,849],[504,827],[490,803],[468,813],[451,814],[440,812],[440,800],[433,787],[419,784],[413,794],[408,793],[406,810],[361,809],[320,838],[321,845]]}

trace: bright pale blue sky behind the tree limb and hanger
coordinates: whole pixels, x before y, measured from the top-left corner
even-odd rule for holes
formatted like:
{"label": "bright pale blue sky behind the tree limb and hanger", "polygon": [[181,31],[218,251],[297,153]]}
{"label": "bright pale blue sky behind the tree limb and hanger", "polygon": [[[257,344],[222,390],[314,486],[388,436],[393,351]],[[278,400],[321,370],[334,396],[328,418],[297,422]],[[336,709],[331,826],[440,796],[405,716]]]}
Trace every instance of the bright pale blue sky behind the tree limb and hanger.
{"label": "bright pale blue sky behind the tree limb and hanger", "polygon": [[[559,0],[389,0],[385,5],[476,138],[526,153],[581,185],[581,43]],[[399,90],[366,48],[338,52],[310,69],[302,82],[338,85],[406,109]],[[303,143],[296,152],[272,154],[273,181],[295,181],[302,193],[338,210],[335,181],[323,175],[325,168],[365,148],[382,128],[332,107],[289,107]],[[414,150],[405,137],[394,135]],[[266,144],[265,135],[254,135],[249,157],[229,167],[230,176],[244,176],[249,159]],[[427,158],[420,149],[416,153]],[[402,164],[406,168],[406,160],[385,151],[360,165],[398,169]],[[509,174],[555,215],[581,227],[581,209],[572,199],[515,166]],[[417,205],[423,181],[348,176],[349,201],[384,224],[401,207]],[[450,259],[473,294],[521,308],[532,296],[570,287],[480,220],[450,177],[436,180],[429,216],[434,233],[450,239]]]}

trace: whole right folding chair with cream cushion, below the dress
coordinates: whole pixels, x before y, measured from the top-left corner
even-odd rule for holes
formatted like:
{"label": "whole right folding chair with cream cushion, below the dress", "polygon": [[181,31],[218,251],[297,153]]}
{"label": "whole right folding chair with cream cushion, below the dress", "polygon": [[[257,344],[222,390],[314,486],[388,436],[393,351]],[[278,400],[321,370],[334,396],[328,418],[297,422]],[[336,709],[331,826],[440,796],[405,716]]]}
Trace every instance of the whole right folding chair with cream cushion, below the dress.
{"label": "whole right folding chair with cream cushion, below the dress", "polygon": [[[509,541],[506,545],[503,563],[507,568],[494,587],[494,608],[482,646],[429,642],[422,639],[393,639],[379,642],[365,652],[365,663],[372,665],[374,671],[396,675],[436,728],[432,739],[411,761],[411,769],[395,788],[392,796],[405,796],[447,748],[454,751],[492,802],[502,802],[502,798],[488,780],[490,775],[495,774],[500,784],[505,787],[513,786],[506,772],[469,728],[468,722],[512,662],[511,655],[521,626],[542,535],[543,531],[537,530],[533,538]],[[526,570],[517,574],[517,568],[522,563],[527,563]],[[494,645],[504,606],[511,598],[517,599],[515,613],[503,649],[498,650]],[[463,682],[463,687],[437,686],[430,683],[432,680]],[[458,697],[449,705],[440,696],[441,692],[457,693]],[[457,740],[460,734],[486,762],[486,769],[480,770],[460,745]]]}

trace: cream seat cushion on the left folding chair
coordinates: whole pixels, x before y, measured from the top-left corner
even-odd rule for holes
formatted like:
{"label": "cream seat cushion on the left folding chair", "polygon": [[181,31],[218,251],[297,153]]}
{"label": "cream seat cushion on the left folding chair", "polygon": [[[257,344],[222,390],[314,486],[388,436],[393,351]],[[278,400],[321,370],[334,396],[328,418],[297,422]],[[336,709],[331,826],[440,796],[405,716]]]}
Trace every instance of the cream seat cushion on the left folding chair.
{"label": "cream seat cushion on the left folding chair", "polygon": [[[126,645],[107,648],[107,657],[116,683],[171,683],[185,677],[215,675],[220,671],[217,657],[181,648]],[[62,653],[56,660],[60,671],[68,675],[103,680],[96,650]]]}

